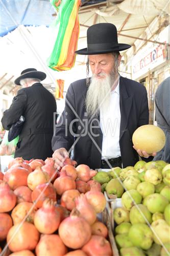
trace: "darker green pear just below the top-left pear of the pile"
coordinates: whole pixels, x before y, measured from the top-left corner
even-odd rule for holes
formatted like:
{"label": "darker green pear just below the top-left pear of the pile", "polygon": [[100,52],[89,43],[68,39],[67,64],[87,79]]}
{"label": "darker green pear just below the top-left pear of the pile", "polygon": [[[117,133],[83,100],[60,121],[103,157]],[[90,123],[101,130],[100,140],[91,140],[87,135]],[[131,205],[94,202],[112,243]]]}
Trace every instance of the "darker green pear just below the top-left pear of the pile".
{"label": "darker green pear just below the top-left pear of the pile", "polygon": [[122,194],[124,193],[124,187],[122,184],[119,182],[118,179],[112,179],[110,180],[106,187],[105,190],[107,191],[107,194],[111,195],[116,195],[117,197],[122,197]]}

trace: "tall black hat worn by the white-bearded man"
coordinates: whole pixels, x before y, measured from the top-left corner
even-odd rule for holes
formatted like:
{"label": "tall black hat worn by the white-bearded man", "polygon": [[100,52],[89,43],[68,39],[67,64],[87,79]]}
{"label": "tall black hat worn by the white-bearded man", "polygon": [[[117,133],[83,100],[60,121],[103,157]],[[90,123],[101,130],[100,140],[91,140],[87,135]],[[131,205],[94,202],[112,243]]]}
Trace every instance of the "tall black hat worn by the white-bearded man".
{"label": "tall black hat worn by the white-bearded man", "polygon": [[99,23],[87,29],[87,48],[76,51],[77,54],[92,55],[124,51],[127,44],[118,44],[117,29],[111,23]]}

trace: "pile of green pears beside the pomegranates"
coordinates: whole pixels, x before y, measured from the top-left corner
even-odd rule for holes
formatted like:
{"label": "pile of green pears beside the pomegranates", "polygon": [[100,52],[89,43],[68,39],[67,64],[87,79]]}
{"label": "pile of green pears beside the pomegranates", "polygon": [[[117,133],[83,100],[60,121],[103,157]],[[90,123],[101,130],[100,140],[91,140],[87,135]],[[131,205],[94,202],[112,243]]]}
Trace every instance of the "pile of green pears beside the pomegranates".
{"label": "pile of green pears beside the pomegranates", "polygon": [[138,161],[93,179],[108,195],[122,199],[113,212],[120,255],[170,255],[170,164]]}

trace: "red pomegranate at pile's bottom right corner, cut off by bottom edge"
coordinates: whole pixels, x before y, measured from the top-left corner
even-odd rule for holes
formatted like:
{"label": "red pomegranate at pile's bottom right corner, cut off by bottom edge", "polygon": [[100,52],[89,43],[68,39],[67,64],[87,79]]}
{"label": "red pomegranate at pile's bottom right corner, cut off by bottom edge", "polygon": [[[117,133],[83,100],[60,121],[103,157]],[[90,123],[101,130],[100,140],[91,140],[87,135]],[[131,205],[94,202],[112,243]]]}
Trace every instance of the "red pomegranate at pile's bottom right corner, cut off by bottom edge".
{"label": "red pomegranate at pile's bottom right corner, cut off by bottom edge", "polygon": [[112,249],[109,241],[101,236],[91,236],[91,239],[82,247],[87,255],[112,256]]}

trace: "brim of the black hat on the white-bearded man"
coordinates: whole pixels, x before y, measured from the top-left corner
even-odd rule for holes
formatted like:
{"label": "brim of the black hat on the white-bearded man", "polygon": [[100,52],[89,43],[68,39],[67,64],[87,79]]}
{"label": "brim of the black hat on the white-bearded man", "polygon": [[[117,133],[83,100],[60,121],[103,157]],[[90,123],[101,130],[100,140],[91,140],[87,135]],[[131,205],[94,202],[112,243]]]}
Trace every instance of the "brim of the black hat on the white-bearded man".
{"label": "brim of the black hat on the white-bearded man", "polygon": [[131,46],[128,44],[118,44],[117,47],[113,47],[110,49],[98,49],[98,47],[96,47],[94,50],[92,51],[88,51],[87,48],[81,49],[76,51],[75,53],[80,54],[80,55],[95,55],[95,54],[104,54],[104,53],[111,53],[111,52],[120,52],[120,51],[124,51],[129,49]]}

